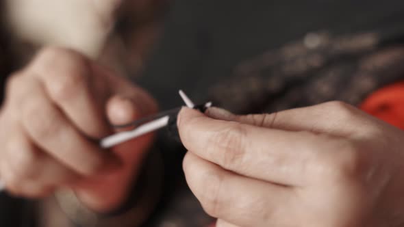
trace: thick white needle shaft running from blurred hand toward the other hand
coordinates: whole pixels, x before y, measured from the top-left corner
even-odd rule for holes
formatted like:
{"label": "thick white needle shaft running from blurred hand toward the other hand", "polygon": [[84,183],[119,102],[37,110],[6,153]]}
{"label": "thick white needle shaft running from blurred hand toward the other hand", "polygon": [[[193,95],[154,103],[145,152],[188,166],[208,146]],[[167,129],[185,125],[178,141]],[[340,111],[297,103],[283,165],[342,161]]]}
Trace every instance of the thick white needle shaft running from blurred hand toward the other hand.
{"label": "thick white needle shaft running from blurred hand toward the other hand", "polygon": [[153,120],[149,123],[142,124],[132,131],[125,131],[122,133],[110,135],[109,137],[101,139],[100,146],[101,148],[112,148],[113,146],[116,146],[117,144],[121,144],[123,142],[127,142],[130,139],[134,139],[136,137],[140,137],[141,135],[156,131],[157,129],[164,128],[165,126],[167,126],[169,119],[170,116],[164,116],[162,118],[157,118],[156,120]]}

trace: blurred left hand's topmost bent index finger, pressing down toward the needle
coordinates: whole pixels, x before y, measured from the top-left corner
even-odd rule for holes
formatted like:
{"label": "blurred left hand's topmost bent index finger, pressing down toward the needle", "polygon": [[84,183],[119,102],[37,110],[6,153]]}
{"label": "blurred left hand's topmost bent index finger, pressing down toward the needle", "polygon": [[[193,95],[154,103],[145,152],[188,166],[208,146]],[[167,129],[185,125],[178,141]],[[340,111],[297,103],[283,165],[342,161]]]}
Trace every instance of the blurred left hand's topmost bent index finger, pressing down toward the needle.
{"label": "blurred left hand's topmost bent index finger, pressing down toward the needle", "polygon": [[103,79],[92,70],[94,63],[72,50],[48,47],[29,67],[44,85],[49,98],[77,129],[89,137],[101,138],[110,133],[103,105],[108,88],[97,90]]}

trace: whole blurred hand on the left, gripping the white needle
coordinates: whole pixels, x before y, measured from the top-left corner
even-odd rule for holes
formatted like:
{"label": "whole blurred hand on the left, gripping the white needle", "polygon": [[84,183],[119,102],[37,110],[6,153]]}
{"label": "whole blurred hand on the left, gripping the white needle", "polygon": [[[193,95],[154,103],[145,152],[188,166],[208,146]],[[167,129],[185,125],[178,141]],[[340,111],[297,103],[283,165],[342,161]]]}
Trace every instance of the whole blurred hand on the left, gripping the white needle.
{"label": "whole blurred hand on the left, gripping the white needle", "polygon": [[47,48],[10,77],[0,111],[0,179],[10,193],[38,198],[72,188],[110,211],[125,200],[151,135],[103,150],[98,140],[157,110],[153,98],[90,59]]}

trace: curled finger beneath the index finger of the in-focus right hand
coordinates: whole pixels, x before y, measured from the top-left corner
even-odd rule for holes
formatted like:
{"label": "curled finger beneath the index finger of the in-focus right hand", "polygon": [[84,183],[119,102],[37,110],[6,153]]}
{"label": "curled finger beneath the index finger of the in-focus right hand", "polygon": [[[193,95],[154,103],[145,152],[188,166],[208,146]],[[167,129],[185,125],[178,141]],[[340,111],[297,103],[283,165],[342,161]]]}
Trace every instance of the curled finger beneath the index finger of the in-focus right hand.
{"label": "curled finger beneath the index finger of the in-focus right hand", "polygon": [[282,224],[294,199],[288,187],[246,178],[223,170],[188,152],[186,181],[205,211],[239,226]]}

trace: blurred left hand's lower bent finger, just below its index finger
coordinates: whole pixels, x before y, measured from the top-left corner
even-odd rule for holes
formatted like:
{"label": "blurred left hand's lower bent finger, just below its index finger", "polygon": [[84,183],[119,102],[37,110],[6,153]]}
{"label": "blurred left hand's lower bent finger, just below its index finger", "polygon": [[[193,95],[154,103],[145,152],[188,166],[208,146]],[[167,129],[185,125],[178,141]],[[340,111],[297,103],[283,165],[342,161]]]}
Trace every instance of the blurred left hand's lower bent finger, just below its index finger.
{"label": "blurred left hand's lower bent finger, just below its index finger", "polygon": [[[35,83],[35,80],[31,81]],[[22,124],[27,135],[49,155],[79,174],[94,175],[116,168],[118,160],[105,152],[66,119],[49,101],[40,85],[33,85],[21,107]]]}

